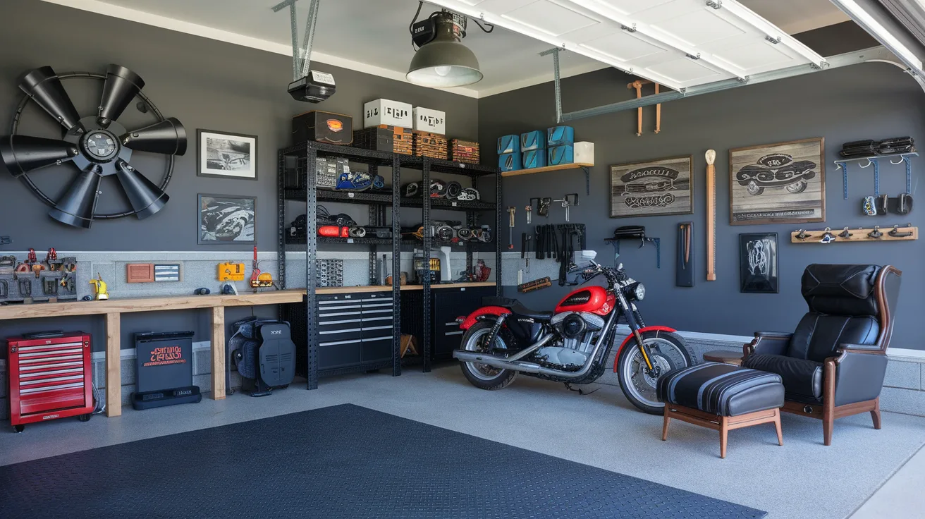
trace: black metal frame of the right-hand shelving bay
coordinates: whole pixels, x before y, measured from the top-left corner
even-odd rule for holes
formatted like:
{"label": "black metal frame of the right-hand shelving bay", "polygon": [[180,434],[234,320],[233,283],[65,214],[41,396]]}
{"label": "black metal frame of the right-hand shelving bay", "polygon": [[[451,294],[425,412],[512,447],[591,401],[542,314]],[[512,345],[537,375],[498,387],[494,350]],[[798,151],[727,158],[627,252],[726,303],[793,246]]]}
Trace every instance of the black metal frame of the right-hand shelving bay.
{"label": "black metal frame of the right-hand shelving bay", "polygon": [[[495,212],[495,225],[491,229],[494,232],[494,248],[495,248],[495,293],[496,295],[501,295],[501,239],[500,239],[500,227],[501,227],[501,175],[500,170],[497,167],[486,167],[480,166],[477,164],[465,164],[462,162],[454,162],[450,160],[441,160],[437,158],[422,157],[422,156],[411,156],[407,157],[402,155],[401,158],[401,167],[408,169],[418,169],[422,172],[423,178],[421,179],[421,185],[425,186],[422,191],[422,196],[419,199],[409,199],[404,198],[401,200],[401,204],[410,207],[421,207],[423,212],[423,223],[424,229],[430,229],[431,219],[430,219],[430,210],[432,208],[445,209],[450,211],[465,211],[466,213],[466,225],[470,228],[475,227],[475,220],[477,219],[477,213],[481,211],[494,211]],[[478,179],[493,176],[495,178],[495,202],[486,203],[482,201],[477,202],[452,202],[448,200],[432,199],[430,198],[430,191],[428,186],[430,186],[430,176],[431,173],[441,173],[441,174],[450,174],[450,175],[464,175],[472,179],[472,187],[478,188]],[[484,193],[483,193],[484,194]],[[424,257],[429,258],[432,245],[436,243],[434,240],[428,240],[425,238],[423,243],[417,243],[422,246],[424,249]],[[465,245],[466,251],[466,270],[472,269],[473,253],[480,249],[480,245],[486,245],[481,243],[467,243]],[[429,266],[428,262],[425,262],[425,266]],[[424,286],[424,331],[423,331],[423,342],[424,342],[424,351],[422,356],[424,357],[424,371],[430,371],[430,350],[431,350],[431,330],[429,326],[426,326],[426,323],[429,323],[431,320],[431,308],[430,304],[427,302],[430,301],[430,276],[425,273],[424,278],[422,279],[422,284]]]}

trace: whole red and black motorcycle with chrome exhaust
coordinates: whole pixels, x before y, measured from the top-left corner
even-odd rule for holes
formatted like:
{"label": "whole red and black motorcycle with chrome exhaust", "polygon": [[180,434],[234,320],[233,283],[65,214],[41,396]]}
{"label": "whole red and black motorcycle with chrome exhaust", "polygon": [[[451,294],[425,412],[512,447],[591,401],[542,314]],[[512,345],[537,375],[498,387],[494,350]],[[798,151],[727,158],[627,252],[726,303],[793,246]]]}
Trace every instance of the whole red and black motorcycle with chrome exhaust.
{"label": "whole red and black motorcycle with chrome exhaust", "polygon": [[604,373],[622,316],[632,332],[620,343],[613,370],[623,394],[650,414],[662,414],[656,397],[661,374],[696,364],[694,352],[670,327],[647,327],[636,308],[646,288],[623,271],[593,260],[573,266],[587,282],[607,279],[607,287],[574,290],[554,312],[530,310],[517,300],[491,298],[492,303],[460,317],[462,373],[476,388],[502,389],[518,373],[572,384],[588,384]]}

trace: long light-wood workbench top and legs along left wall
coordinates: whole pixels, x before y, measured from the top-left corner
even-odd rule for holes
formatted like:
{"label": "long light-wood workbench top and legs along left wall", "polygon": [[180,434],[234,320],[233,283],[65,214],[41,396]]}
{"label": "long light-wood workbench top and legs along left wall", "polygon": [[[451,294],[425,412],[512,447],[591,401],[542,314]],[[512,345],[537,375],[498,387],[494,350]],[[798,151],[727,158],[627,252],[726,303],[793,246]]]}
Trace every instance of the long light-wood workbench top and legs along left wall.
{"label": "long light-wood workbench top and legs along left wall", "polygon": [[[493,282],[434,284],[431,289],[493,287]],[[392,290],[386,286],[326,287],[315,293],[361,293]],[[404,285],[401,290],[424,290],[421,285]],[[225,398],[225,308],[261,304],[302,303],[304,289],[273,290],[240,295],[189,295],[143,299],[110,299],[68,303],[9,304],[0,306],[0,320],[105,315],[106,329],[106,415],[122,414],[122,366],[120,364],[121,315],[166,310],[212,309],[212,398]]]}

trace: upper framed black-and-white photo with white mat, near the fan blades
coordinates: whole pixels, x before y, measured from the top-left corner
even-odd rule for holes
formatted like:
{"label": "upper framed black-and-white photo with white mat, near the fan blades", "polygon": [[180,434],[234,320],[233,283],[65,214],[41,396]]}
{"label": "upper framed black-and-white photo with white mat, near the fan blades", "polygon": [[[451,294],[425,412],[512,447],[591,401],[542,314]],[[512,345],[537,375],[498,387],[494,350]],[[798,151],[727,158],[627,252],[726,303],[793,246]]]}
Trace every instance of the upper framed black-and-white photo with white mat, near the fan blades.
{"label": "upper framed black-and-white photo with white mat, near the fan blades", "polygon": [[257,179],[257,136],[196,130],[196,174],[223,179]]}

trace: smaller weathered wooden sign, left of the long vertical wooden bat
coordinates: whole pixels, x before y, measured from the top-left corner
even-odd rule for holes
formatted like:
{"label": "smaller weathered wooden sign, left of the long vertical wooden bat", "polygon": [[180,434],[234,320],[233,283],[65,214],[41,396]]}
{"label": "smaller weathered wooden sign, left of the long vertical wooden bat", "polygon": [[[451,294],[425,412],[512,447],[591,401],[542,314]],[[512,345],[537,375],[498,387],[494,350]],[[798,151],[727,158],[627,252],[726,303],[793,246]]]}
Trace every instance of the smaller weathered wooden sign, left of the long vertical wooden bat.
{"label": "smaller weathered wooden sign, left of the long vertical wooden bat", "polygon": [[694,212],[691,155],[611,166],[611,218]]}

